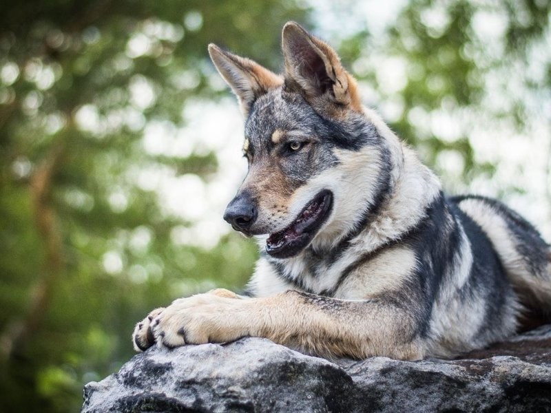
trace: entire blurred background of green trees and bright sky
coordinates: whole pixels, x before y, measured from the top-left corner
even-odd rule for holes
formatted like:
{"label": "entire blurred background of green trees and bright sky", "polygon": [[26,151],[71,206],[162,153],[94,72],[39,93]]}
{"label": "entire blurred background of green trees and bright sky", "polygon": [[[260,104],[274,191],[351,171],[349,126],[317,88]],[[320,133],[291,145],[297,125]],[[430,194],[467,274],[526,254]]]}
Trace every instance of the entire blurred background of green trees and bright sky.
{"label": "entire blurred background of green trees and bright sky", "polygon": [[136,321],[244,286],[222,212],[245,175],[217,43],[273,70],[288,20],[450,193],[496,196],[551,239],[548,0],[3,0],[2,410],[74,412],[132,357]]}

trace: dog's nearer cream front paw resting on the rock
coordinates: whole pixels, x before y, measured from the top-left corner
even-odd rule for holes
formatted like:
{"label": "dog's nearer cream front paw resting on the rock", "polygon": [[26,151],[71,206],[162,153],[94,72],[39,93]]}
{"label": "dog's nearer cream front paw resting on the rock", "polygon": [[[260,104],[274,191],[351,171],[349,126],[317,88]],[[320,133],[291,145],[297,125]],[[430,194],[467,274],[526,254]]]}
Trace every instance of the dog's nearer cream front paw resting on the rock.
{"label": "dog's nearer cream front paw resting on the rock", "polygon": [[244,301],[223,289],[176,299],[149,322],[152,337],[147,343],[153,339],[157,346],[174,348],[184,344],[222,343],[248,335],[246,323],[242,321]]}

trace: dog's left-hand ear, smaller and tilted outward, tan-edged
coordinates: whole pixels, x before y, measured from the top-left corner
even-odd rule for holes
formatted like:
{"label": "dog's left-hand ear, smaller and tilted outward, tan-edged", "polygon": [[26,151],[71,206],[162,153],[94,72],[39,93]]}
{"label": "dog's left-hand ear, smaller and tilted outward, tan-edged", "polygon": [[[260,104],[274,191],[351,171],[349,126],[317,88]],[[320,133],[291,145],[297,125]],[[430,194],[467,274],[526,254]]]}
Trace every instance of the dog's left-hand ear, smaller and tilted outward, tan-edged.
{"label": "dog's left-hand ear, smaller and tilted outward, tan-edged", "polygon": [[283,78],[245,57],[236,56],[209,44],[209,54],[218,72],[238,97],[241,111],[249,114],[258,96],[283,84]]}

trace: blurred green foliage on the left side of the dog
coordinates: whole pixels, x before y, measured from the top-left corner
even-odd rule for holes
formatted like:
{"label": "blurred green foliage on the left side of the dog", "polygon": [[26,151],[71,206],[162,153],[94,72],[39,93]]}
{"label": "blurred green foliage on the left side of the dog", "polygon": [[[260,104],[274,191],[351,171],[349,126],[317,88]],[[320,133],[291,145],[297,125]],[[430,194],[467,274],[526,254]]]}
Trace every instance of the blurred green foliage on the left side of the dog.
{"label": "blurred green foliage on the left side of the dog", "polygon": [[[209,251],[176,245],[172,230],[190,223],[135,183],[143,167],[208,182],[216,153],[152,155],[141,138],[153,120],[185,125],[190,97],[220,95],[209,42],[271,64],[282,24],[306,12],[293,1],[0,7],[0,393],[6,411],[75,411],[83,383],[132,356],[149,310],[245,284],[253,244],[232,234]],[[159,97],[136,102],[138,83]]]}

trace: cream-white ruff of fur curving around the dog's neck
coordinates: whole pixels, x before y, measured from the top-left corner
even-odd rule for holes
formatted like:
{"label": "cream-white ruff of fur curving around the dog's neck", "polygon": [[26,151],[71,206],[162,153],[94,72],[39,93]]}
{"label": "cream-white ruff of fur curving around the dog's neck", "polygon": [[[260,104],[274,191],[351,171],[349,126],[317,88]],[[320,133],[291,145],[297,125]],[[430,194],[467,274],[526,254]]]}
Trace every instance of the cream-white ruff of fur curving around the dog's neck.
{"label": "cream-white ruff of fur curving around the dog's neck", "polygon": [[[434,173],[422,164],[375,112],[365,109],[365,115],[377,127],[390,153],[390,184],[377,213],[370,215],[357,228],[363,220],[362,207],[357,204],[350,221],[335,225],[335,220],[331,220],[300,254],[286,260],[269,260],[279,266],[285,279],[293,279],[295,286],[313,293],[328,291],[346,269],[347,263],[354,261],[353,257],[399,241],[426,216],[430,204],[441,196],[441,185]],[[370,165],[363,162],[360,155],[349,153],[349,156],[359,157],[358,167],[368,169]],[[377,194],[370,193],[362,199],[368,203],[372,200],[367,198],[375,196]],[[260,251],[263,251],[265,237],[260,237],[258,241]],[[263,271],[263,260],[260,263],[262,265],[257,271]],[[324,273],[324,277],[318,277],[320,273]]]}

